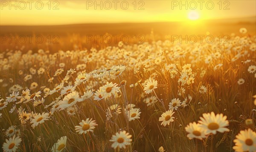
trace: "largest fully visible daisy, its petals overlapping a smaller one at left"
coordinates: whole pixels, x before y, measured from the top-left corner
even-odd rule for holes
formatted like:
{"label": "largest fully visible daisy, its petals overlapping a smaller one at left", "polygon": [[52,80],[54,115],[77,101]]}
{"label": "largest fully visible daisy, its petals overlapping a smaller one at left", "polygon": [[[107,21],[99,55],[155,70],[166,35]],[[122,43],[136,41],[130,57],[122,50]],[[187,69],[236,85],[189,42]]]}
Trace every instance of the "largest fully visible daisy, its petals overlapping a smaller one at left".
{"label": "largest fully visible daisy, its petals overlapping a smaller one at left", "polygon": [[227,116],[223,114],[215,115],[214,112],[204,113],[203,117],[200,117],[201,120],[198,122],[201,123],[199,126],[206,130],[205,134],[216,134],[216,132],[228,132],[229,129],[225,128],[229,125],[229,121],[226,120]]}

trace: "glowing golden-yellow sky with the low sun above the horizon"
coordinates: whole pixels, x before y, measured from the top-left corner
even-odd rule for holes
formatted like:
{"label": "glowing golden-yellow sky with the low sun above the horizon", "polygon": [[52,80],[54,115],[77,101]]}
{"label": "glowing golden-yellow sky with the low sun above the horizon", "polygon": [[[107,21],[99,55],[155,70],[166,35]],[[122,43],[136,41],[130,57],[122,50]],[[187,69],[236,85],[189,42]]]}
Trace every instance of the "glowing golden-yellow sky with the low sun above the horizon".
{"label": "glowing golden-yellow sky with the low sun above the horizon", "polygon": [[[0,0],[0,2],[0,25],[172,22],[191,20],[193,17],[195,19],[199,17],[198,20],[210,20],[256,16],[256,0]],[[191,15],[192,17],[188,17]]]}

